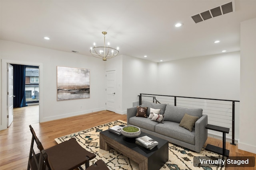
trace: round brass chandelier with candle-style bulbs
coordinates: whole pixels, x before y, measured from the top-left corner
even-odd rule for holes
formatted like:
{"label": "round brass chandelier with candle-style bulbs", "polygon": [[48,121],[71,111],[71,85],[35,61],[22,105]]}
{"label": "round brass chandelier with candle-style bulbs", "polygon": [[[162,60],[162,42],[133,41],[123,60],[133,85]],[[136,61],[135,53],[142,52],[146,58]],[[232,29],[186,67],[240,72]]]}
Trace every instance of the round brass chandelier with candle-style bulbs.
{"label": "round brass chandelier with candle-style bulbs", "polygon": [[103,61],[106,61],[107,59],[111,59],[113,57],[116,57],[116,55],[118,55],[119,51],[118,51],[118,47],[117,49],[114,49],[112,47],[109,47],[109,43],[108,43],[108,47],[105,46],[105,35],[107,34],[107,32],[103,31],[102,34],[104,35],[104,47],[95,47],[95,43],[93,44],[94,47],[90,49],[90,53],[92,53],[92,55],[94,57],[97,58],[101,58]]}

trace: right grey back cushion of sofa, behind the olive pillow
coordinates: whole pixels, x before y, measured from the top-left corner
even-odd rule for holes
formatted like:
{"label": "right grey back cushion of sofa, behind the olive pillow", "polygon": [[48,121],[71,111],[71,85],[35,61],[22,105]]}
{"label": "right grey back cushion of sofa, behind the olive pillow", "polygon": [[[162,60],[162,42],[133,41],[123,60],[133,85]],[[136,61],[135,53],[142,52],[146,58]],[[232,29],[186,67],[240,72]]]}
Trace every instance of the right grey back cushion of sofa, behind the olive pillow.
{"label": "right grey back cushion of sofa, behind the olive pillow", "polygon": [[202,117],[203,109],[191,109],[167,104],[166,109],[164,111],[164,121],[174,121],[180,123],[185,113],[200,118]]}

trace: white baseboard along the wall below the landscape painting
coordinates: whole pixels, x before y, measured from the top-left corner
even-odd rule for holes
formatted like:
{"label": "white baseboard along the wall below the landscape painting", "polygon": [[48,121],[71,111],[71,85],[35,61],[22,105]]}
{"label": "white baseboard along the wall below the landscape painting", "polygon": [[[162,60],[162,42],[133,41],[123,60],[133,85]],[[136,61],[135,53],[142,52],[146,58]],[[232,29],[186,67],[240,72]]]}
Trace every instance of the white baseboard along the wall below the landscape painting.
{"label": "white baseboard along the wall below the landscape painting", "polygon": [[72,117],[72,116],[84,115],[84,114],[88,114],[88,113],[92,113],[92,112],[96,112],[96,111],[102,111],[102,110],[104,110],[104,107],[98,108],[98,109],[90,109],[90,110],[78,111],[78,112],[73,112],[73,113],[67,113],[67,114],[63,114],[63,115],[51,116],[51,117],[44,117],[44,118],[40,119],[40,123],[46,122],[46,121],[57,120],[57,119],[63,119],[63,118]]}

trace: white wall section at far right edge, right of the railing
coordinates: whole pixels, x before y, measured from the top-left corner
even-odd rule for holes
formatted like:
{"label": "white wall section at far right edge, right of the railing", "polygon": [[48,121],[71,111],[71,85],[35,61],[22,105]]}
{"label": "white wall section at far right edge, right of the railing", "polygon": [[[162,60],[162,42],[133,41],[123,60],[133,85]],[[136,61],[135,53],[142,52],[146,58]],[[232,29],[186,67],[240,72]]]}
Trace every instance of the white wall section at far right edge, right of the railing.
{"label": "white wall section at far right edge, right of the railing", "polygon": [[240,139],[238,149],[256,153],[256,18],[241,23]]}

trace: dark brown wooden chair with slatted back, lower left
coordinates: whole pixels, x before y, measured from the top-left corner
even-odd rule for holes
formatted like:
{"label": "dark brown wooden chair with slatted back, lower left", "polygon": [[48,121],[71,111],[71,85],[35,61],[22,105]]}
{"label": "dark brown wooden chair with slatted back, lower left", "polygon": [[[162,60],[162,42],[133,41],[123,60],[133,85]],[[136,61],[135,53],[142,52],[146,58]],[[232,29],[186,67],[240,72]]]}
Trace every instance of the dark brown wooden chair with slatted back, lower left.
{"label": "dark brown wooden chair with slatted back, lower left", "polygon": [[[32,141],[28,170],[74,170],[75,168],[82,169],[82,164],[85,164],[86,168],[88,168],[89,160],[96,156],[94,153],[82,148],[74,138],[49,149],[44,149],[32,126],[29,125],[29,127],[32,133]],[[36,146],[39,149],[38,153],[35,153],[34,142],[36,142]]]}

